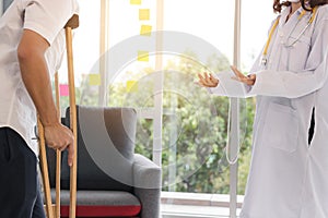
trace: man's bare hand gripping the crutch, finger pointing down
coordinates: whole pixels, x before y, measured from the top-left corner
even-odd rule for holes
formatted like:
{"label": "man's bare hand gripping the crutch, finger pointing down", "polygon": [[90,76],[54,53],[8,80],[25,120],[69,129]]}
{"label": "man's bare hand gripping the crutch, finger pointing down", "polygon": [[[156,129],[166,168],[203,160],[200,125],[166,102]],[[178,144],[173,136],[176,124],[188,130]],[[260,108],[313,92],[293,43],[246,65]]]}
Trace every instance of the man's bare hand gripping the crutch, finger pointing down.
{"label": "man's bare hand gripping the crutch, finger pointing down", "polygon": [[59,150],[68,149],[68,165],[71,167],[74,158],[74,136],[70,129],[56,123],[51,125],[45,125],[45,140],[46,144]]}

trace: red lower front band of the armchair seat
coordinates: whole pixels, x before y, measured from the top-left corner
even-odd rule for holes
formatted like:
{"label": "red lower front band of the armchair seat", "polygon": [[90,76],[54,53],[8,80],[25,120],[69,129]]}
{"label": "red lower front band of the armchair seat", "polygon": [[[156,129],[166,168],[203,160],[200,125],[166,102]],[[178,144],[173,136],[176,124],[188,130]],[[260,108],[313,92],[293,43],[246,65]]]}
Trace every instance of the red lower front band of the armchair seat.
{"label": "red lower front band of the armchair seat", "polygon": [[[77,217],[134,217],[139,215],[140,210],[140,205],[78,205]],[[69,217],[69,206],[60,206],[61,217]]]}

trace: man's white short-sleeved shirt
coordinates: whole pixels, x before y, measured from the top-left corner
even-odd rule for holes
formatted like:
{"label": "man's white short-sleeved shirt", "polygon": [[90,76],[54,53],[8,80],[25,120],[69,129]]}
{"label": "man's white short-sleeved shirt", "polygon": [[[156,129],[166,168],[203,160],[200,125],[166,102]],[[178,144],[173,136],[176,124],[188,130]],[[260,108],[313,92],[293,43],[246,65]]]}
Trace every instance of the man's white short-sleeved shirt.
{"label": "man's white short-sleeved shirt", "polygon": [[78,13],[75,0],[14,0],[0,19],[0,126],[15,130],[38,155],[36,110],[21,77],[16,48],[23,29],[43,36],[49,74],[58,70],[65,50],[63,26]]}

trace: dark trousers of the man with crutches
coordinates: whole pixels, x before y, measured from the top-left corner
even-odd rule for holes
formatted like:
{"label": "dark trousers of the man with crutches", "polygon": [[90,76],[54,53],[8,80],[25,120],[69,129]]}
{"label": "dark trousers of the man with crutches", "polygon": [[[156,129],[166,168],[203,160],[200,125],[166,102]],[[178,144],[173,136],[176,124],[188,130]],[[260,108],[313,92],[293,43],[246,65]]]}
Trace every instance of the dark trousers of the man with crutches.
{"label": "dark trousers of the man with crutches", "polygon": [[10,128],[0,128],[0,217],[45,218],[37,158]]}

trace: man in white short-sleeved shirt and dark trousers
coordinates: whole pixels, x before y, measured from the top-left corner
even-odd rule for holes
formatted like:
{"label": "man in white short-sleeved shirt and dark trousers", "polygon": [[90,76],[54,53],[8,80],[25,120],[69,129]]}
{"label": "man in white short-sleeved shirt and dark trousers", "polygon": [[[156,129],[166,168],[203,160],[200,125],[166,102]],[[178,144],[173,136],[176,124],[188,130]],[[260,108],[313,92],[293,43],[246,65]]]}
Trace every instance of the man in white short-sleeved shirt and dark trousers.
{"label": "man in white short-sleeved shirt and dark trousers", "polygon": [[72,132],[58,121],[50,76],[65,49],[63,26],[75,0],[14,0],[0,20],[0,217],[45,217],[37,184],[36,111],[49,147],[68,148]]}

